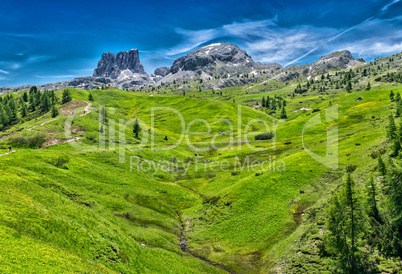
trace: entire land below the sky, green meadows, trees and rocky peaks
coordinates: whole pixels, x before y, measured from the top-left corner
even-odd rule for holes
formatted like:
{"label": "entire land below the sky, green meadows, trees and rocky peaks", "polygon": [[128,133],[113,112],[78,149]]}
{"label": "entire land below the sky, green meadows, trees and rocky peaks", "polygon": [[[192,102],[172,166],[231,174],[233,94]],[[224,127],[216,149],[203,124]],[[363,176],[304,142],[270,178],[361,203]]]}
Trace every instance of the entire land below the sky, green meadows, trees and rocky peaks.
{"label": "entire land below the sky, green meadows, trees and rocky peaks", "polygon": [[401,273],[402,54],[0,88],[1,273]]}

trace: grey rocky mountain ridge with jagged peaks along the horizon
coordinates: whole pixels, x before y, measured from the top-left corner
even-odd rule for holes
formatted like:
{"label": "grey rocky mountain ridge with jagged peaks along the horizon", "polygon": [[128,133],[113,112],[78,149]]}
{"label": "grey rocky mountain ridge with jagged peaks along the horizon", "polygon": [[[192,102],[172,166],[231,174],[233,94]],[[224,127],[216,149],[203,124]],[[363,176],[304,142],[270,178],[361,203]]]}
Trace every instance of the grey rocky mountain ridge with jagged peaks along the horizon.
{"label": "grey rocky mountain ridge with jagged peaks along the horizon", "polygon": [[[364,61],[364,60],[363,60]],[[220,89],[243,85],[255,81],[261,74],[267,79],[287,82],[301,76],[312,77],[329,70],[344,69],[361,63],[347,51],[335,51],[322,56],[314,63],[282,67],[277,63],[255,62],[248,53],[232,43],[214,43],[197,48],[187,55],[178,57],[170,67],[156,68],[148,75],[140,62],[138,49],[121,51],[117,54],[102,54],[93,76],[77,77],[73,80],[38,85],[40,90],[60,88],[96,89],[110,85],[125,90],[144,86],[159,86],[185,80],[212,80],[207,88]],[[241,81],[238,79],[241,78]],[[0,93],[29,89],[32,85],[2,87]]]}

